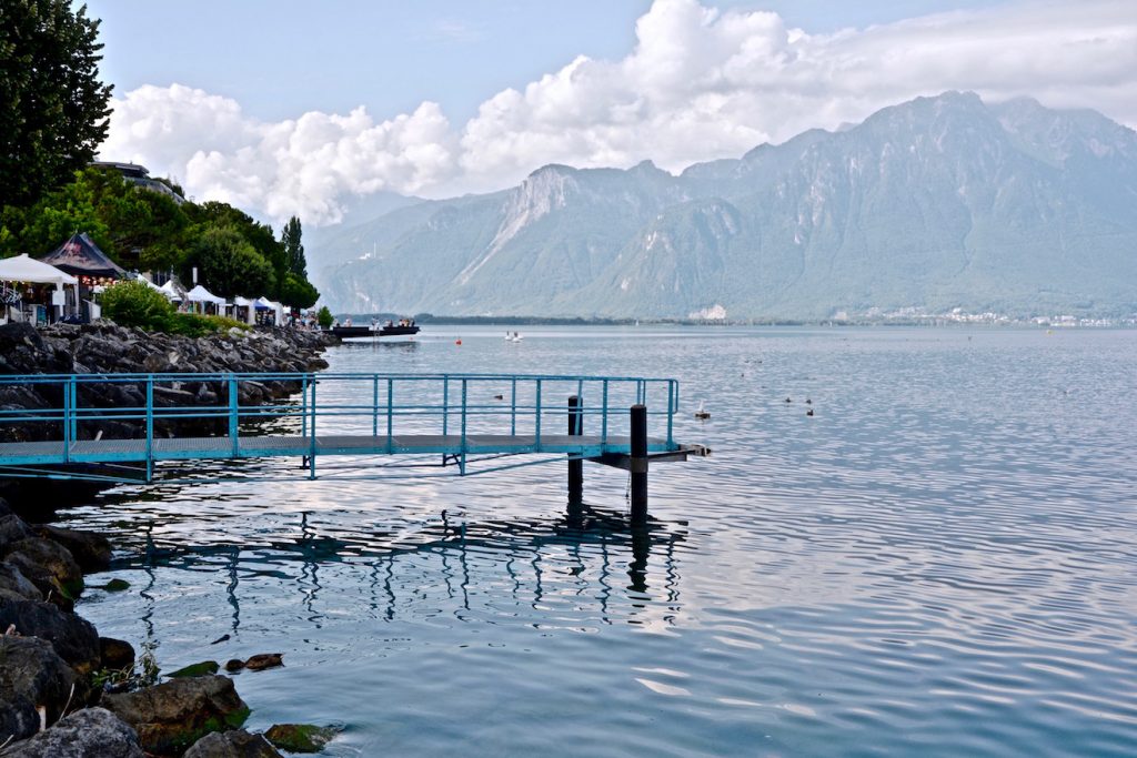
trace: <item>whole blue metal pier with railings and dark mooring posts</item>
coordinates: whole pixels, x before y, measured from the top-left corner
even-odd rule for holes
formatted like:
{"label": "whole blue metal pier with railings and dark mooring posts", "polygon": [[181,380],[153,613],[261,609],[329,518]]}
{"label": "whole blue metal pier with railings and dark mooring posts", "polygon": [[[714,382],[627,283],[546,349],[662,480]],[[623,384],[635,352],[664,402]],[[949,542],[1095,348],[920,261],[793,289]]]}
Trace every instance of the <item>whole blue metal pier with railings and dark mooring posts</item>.
{"label": "whole blue metal pier with railings and dark mooring posts", "polygon": [[[650,465],[708,453],[674,439],[671,378],[76,374],[2,376],[0,388],[45,406],[0,409],[3,439],[18,440],[0,443],[0,477],[194,482],[186,461],[249,458],[285,459],[277,473],[307,480],[415,467],[467,476],[567,460],[574,505],[592,461],[629,472],[641,520]],[[398,468],[380,463],[395,457],[405,457]]]}

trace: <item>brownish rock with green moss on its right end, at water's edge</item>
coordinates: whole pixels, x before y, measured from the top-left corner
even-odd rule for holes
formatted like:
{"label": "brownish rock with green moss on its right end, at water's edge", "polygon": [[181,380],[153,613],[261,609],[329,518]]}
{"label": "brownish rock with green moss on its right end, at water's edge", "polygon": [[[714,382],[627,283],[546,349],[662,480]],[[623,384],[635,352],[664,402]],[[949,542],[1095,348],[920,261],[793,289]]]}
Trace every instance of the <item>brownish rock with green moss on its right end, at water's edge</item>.
{"label": "brownish rock with green moss on its right end, at water's edge", "polygon": [[102,705],[139,734],[147,752],[177,755],[210,732],[236,728],[249,716],[233,681],[225,676],[171,680],[125,694],[106,694]]}

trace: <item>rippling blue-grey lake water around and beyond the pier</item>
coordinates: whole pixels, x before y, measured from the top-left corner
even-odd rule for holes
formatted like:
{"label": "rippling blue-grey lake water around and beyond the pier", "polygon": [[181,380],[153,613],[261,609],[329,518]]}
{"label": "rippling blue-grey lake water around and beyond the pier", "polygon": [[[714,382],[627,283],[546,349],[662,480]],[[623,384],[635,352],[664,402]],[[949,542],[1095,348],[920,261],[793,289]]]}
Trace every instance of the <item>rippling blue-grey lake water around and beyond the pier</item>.
{"label": "rippling blue-grey lake water around and beyond the pier", "polygon": [[329,360],[679,378],[675,436],[714,455],[653,467],[649,530],[600,466],[578,519],[564,464],[257,461],[63,514],[119,548],[90,583],[132,585],[80,611],[166,670],[284,652],[235,677],[249,726],[340,724],[326,755],[1137,751],[1137,332],[504,331]]}

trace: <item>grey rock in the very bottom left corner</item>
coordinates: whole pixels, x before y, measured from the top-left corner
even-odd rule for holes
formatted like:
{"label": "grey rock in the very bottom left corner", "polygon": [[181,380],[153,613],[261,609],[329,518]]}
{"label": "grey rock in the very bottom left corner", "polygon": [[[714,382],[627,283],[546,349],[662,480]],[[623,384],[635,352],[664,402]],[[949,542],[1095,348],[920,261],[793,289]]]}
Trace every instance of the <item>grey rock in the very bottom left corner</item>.
{"label": "grey rock in the very bottom left corner", "polygon": [[138,734],[103,708],[77,710],[3,753],[17,758],[146,758]]}

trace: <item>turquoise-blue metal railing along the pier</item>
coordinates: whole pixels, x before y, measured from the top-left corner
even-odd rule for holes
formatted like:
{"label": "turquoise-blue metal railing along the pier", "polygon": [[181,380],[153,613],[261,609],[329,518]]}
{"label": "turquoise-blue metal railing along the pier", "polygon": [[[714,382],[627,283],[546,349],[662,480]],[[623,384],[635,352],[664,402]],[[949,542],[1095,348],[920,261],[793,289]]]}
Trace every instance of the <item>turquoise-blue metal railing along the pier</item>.
{"label": "turquoise-blue metal railing along the pier", "polygon": [[[582,436],[587,432],[590,447],[580,455],[598,455],[625,447],[628,409],[636,403],[648,408],[648,434],[655,449],[678,448],[674,415],[679,409],[679,383],[670,378],[76,374],[0,376],[0,392],[24,394],[31,405],[40,406],[0,408],[0,440],[5,441],[0,443],[0,466],[144,460],[148,480],[155,460],[189,458],[196,452],[200,457],[233,458],[304,455],[315,476],[316,457],[329,455],[329,445],[322,440],[335,436],[373,438],[376,448],[368,452],[397,453],[412,451],[400,447],[402,435],[420,442],[414,451],[424,449],[423,440],[440,435],[435,450],[456,458],[463,473],[466,455],[480,447],[479,435],[495,435],[501,452],[542,452],[564,448],[566,433]],[[576,413],[568,407],[572,395],[580,399]],[[9,401],[19,405],[19,398]],[[555,423],[557,418],[559,424]],[[134,440],[144,448],[102,445],[99,452],[88,444],[85,452],[80,451],[83,445],[76,443],[100,434],[106,435],[103,439]],[[210,444],[180,448],[175,453],[164,442],[172,436],[208,439]],[[264,444],[271,438],[288,439],[290,444],[274,453]],[[218,445],[223,439],[227,444]],[[299,450],[297,440],[305,440],[307,449]],[[484,451],[485,445],[481,449]]]}

